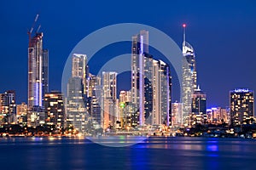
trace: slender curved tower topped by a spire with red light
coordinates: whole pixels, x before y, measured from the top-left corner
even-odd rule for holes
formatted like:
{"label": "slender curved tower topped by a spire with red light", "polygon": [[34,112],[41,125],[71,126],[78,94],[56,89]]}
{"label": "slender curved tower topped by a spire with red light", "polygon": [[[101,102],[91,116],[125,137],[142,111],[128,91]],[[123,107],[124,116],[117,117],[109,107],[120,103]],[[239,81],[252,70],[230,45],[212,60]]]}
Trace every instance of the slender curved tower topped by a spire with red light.
{"label": "slender curved tower topped by a spire with red light", "polygon": [[183,126],[189,125],[189,114],[191,113],[192,94],[196,89],[196,65],[194,48],[186,42],[185,27],[183,25],[183,78],[182,78],[182,103],[183,103]]}

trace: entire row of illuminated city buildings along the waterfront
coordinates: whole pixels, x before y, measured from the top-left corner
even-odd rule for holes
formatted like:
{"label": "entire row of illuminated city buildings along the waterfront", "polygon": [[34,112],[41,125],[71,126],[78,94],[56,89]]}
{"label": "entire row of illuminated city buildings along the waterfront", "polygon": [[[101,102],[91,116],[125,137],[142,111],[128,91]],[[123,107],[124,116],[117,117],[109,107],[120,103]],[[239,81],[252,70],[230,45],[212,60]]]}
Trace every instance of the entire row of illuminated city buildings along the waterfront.
{"label": "entire row of illuminated city buildings along the waterfront", "polygon": [[[148,49],[148,31],[131,37],[131,90],[117,91],[115,71],[93,75],[86,54],[73,54],[67,92],[49,92],[49,51],[43,33],[29,33],[28,101],[16,104],[15,91],[0,94],[0,126],[19,124],[56,129],[74,127],[80,133],[138,131],[198,124],[252,124],[253,91],[230,91],[230,106],[207,109],[207,94],[197,84],[195,51],[183,34],[181,101],[172,102],[170,65]],[[155,128],[154,128],[155,127]]]}

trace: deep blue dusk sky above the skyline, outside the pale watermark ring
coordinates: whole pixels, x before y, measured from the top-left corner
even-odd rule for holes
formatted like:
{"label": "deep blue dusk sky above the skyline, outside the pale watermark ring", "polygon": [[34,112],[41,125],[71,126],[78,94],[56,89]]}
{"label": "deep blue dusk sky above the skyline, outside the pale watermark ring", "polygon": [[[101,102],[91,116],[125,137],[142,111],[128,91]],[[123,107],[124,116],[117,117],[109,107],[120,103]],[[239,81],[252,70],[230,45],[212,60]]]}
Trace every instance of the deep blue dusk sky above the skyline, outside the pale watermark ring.
{"label": "deep blue dusk sky above the skyline, outside the pale watermark ring", "polygon": [[68,54],[90,32],[134,22],[154,26],[181,45],[184,22],[188,25],[187,40],[195,48],[198,82],[207,93],[207,105],[229,105],[230,89],[256,90],[255,7],[253,0],[1,1],[0,93],[15,89],[18,103],[26,101],[26,31],[39,13],[44,48],[49,48],[50,89],[61,90]]}

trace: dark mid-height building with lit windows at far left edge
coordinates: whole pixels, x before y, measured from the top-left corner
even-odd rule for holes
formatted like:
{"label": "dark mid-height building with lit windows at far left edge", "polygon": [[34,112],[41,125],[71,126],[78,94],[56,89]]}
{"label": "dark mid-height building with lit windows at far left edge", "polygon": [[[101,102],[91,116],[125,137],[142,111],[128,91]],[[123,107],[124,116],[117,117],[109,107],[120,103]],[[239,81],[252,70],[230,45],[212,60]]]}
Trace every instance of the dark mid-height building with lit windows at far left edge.
{"label": "dark mid-height building with lit windows at far left edge", "polygon": [[16,122],[15,91],[9,90],[0,94],[0,123]]}

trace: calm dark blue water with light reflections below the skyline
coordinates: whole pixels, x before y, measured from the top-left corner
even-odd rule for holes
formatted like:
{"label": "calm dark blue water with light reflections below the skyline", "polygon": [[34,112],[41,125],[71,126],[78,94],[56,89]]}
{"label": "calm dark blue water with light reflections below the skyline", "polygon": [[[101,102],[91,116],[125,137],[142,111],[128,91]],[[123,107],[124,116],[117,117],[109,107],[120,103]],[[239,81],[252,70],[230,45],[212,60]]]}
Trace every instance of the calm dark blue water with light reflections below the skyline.
{"label": "calm dark blue water with light reflections below the skyline", "polygon": [[0,138],[0,169],[256,169],[256,140],[150,138],[128,147],[87,139]]}

